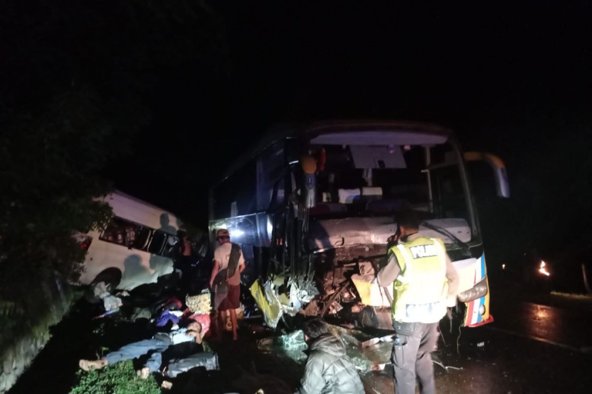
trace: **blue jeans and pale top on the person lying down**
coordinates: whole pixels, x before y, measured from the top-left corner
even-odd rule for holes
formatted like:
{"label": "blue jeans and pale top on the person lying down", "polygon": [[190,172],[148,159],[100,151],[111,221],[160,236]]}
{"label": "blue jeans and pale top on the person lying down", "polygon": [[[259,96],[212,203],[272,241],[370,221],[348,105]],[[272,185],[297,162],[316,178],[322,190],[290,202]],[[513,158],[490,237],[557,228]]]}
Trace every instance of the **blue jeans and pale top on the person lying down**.
{"label": "blue jeans and pale top on the person lying down", "polygon": [[118,350],[111,351],[102,359],[107,360],[107,364],[115,364],[124,360],[136,359],[153,351],[154,353],[150,355],[144,367],[148,367],[150,372],[156,372],[162,364],[162,352],[170,345],[195,341],[195,337],[188,336],[186,331],[186,328],[179,328],[179,330],[171,331],[168,334],[158,333],[152,339],[130,343]]}

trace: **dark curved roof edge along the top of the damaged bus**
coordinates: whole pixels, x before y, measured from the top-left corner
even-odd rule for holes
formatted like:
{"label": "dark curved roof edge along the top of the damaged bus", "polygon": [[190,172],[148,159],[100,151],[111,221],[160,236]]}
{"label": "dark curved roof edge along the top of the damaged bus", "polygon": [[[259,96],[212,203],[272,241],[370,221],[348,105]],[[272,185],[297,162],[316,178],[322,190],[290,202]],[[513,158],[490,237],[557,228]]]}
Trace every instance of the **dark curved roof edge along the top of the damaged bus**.
{"label": "dark curved roof edge along the top of the damaged bus", "polygon": [[[260,152],[268,146],[285,138],[296,138],[299,136],[315,136],[330,133],[342,132],[404,132],[424,135],[437,135],[448,138],[452,135],[450,129],[431,123],[412,122],[412,121],[375,121],[375,120],[334,120],[334,121],[316,121],[310,123],[282,123],[272,126],[262,138],[258,140],[250,149],[240,155],[232,162],[224,172],[223,181],[234,174],[239,168],[243,167],[251,159],[255,158]],[[216,184],[218,184],[217,182]]]}

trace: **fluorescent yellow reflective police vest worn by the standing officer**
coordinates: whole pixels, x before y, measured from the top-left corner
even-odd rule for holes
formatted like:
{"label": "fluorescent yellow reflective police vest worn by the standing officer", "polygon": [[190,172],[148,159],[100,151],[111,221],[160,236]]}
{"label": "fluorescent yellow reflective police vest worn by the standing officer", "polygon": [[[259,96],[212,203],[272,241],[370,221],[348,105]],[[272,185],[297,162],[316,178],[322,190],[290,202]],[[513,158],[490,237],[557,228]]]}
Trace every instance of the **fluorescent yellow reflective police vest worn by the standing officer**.
{"label": "fluorescent yellow reflective police vest worn by the standing officer", "polygon": [[440,239],[418,237],[390,250],[401,272],[392,284],[392,320],[437,323],[446,314],[446,249]]}

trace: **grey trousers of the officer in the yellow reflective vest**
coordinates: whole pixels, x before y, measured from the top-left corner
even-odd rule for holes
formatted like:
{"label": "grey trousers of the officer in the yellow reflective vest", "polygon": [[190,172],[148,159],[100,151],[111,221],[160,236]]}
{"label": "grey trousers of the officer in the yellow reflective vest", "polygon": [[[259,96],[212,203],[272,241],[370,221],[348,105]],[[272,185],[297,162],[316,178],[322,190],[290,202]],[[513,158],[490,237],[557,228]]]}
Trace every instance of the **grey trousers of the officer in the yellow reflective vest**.
{"label": "grey trousers of the officer in the yellow reflective vest", "polygon": [[437,323],[414,323],[413,334],[397,334],[392,344],[391,361],[397,394],[414,394],[416,377],[422,394],[436,392],[434,366],[430,353],[437,349]]}

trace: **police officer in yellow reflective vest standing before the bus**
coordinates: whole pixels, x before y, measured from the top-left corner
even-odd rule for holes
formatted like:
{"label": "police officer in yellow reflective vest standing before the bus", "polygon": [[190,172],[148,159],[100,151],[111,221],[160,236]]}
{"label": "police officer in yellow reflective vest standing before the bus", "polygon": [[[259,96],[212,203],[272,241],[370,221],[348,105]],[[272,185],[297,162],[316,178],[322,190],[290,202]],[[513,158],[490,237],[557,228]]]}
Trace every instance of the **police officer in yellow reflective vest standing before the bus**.
{"label": "police officer in yellow reflective vest standing before the bus", "polygon": [[395,217],[398,245],[388,250],[388,263],[377,275],[378,284],[392,284],[392,325],[397,333],[392,346],[397,394],[436,392],[430,353],[437,349],[438,322],[446,307],[456,304],[458,273],[442,240],[419,235],[414,211]]}

